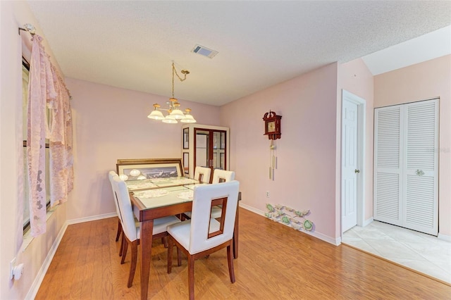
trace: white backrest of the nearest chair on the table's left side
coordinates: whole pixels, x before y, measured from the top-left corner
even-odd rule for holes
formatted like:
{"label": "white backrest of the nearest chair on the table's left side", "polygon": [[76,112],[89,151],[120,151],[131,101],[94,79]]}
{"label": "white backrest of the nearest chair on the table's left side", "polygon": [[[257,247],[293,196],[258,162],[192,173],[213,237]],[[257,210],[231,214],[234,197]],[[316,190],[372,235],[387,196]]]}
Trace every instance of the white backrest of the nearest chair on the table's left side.
{"label": "white backrest of the nearest chair on the table's left side", "polygon": [[113,176],[113,192],[118,201],[118,208],[121,211],[122,230],[130,240],[130,242],[138,239],[135,225],[135,217],[133,215],[132,202],[130,194],[128,194],[127,185],[119,178],[118,175]]}

